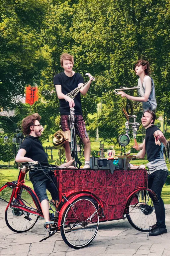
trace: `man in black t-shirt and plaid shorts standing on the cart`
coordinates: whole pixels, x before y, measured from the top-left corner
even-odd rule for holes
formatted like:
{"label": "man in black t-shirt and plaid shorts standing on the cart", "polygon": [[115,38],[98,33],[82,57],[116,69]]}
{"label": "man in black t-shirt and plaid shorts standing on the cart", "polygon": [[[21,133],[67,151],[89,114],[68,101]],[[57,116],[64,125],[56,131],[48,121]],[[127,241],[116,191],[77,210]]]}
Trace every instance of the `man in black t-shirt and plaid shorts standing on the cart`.
{"label": "man in black t-shirt and plaid shorts standing on the cart", "polygon": [[[86,131],[85,122],[83,120],[82,108],[81,108],[81,96],[86,95],[88,92],[94,77],[92,77],[89,73],[89,81],[84,84],[84,78],[80,73],[75,73],[72,68],[74,65],[74,58],[72,55],[68,53],[63,53],[60,56],[61,67],[64,69],[64,72],[56,74],[54,76],[54,87],[56,89],[56,93],[59,99],[60,104],[60,115],[61,115],[61,126],[64,132],[70,132],[69,125],[69,115],[70,108],[74,108],[75,111],[75,131],[77,135],[80,137],[84,144],[84,157],[85,157],[85,165],[83,168],[90,168],[90,140]],[[82,85],[84,84],[83,88]],[[70,93],[75,88],[80,88],[80,92],[75,96],[74,100],[67,96],[66,94]],[[71,160],[71,152],[69,142],[65,142],[65,156],[67,161]]]}

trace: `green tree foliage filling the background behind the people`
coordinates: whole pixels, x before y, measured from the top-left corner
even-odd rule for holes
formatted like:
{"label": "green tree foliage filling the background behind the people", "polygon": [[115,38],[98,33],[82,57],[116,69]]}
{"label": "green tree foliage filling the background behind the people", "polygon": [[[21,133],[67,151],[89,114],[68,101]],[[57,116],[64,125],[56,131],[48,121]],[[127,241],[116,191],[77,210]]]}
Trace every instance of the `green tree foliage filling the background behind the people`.
{"label": "green tree foliage filling the background behind the people", "polygon": [[[53,76],[62,71],[60,54],[68,52],[74,56],[75,72],[96,77],[82,97],[82,109],[87,120],[102,98],[102,115],[89,123],[89,129],[99,128],[100,137],[113,138],[124,130],[125,100],[113,90],[137,85],[133,63],[140,58],[151,66],[157,110],[170,118],[168,0],[0,2],[1,107],[13,107],[13,97],[23,94],[27,84],[37,83],[42,101],[34,109],[49,131],[55,130],[59,108]],[[133,107],[140,119],[141,103]]]}

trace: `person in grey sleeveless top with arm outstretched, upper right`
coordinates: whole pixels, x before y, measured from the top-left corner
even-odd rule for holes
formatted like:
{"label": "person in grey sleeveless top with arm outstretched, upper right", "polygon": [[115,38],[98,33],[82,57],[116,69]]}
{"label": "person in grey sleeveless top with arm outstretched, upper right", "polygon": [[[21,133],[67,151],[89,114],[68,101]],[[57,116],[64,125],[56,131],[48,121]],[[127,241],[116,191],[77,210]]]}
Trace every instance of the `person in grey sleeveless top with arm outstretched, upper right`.
{"label": "person in grey sleeveless top with arm outstretched, upper right", "polygon": [[152,110],[155,112],[157,106],[155,98],[155,86],[153,79],[150,77],[149,62],[140,59],[134,64],[133,69],[136,75],[139,76],[138,86],[140,88],[138,89],[138,93],[140,97],[128,95],[123,91],[117,92],[117,94],[121,95],[122,97],[126,97],[128,100],[142,102],[143,112],[147,110]]}

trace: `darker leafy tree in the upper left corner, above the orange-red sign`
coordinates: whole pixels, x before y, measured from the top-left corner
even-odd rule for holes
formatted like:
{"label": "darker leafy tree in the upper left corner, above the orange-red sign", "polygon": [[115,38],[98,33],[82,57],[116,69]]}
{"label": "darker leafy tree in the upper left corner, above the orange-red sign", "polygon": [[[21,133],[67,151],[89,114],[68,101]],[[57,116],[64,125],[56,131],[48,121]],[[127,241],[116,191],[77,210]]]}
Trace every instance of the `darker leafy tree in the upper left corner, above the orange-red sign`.
{"label": "darker leafy tree in the upper left corner, above the orange-red sign", "polygon": [[15,106],[27,84],[39,83],[46,65],[41,29],[47,0],[1,0],[0,106]]}

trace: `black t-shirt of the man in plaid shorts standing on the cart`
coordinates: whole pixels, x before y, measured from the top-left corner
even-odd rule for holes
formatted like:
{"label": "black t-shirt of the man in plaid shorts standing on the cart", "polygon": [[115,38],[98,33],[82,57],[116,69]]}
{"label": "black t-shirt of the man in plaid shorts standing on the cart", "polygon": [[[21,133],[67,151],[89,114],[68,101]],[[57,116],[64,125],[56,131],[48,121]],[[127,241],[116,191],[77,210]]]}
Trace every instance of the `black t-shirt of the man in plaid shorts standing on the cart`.
{"label": "black t-shirt of the man in plaid shorts standing on the cart", "polygon": [[[64,72],[54,76],[54,87],[56,84],[60,84],[61,92],[65,95],[71,92],[72,90],[74,90],[75,88],[77,88],[78,84],[80,83],[84,83],[84,78],[80,73],[74,73],[72,77],[66,76]],[[82,115],[80,92],[74,98],[74,103],[75,103],[75,107],[74,107],[75,115]],[[60,114],[70,115],[69,103],[64,99],[59,99],[59,104],[60,104]]]}

